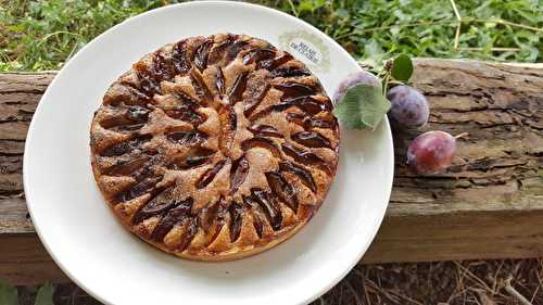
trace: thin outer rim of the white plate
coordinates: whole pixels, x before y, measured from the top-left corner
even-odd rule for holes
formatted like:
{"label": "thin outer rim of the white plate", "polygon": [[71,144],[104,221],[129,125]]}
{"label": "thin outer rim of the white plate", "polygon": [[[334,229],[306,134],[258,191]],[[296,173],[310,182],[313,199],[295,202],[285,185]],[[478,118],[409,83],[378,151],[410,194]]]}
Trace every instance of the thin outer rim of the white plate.
{"label": "thin outer rim of the white plate", "polygon": [[[343,49],[343,47],[341,47],[336,40],[333,40],[331,37],[329,37],[328,35],[326,35],[325,33],[323,33],[320,29],[316,28],[315,26],[311,25],[310,23],[306,23],[305,21],[302,21],[295,16],[292,16],[292,15],[289,15],[285,12],[281,12],[279,10],[276,10],[276,9],[273,9],[273,8],[268,8],[268,7],[265,7],[265,5],[261,5],[261,4],[255,4],[255,3],[249,3],[249,2],[238,2],[238,1],[227,1],[227,0],[212,0],[212,1],[190,1],[190,2],[184,2],[184,3],[176,3],[176,4],[169,4],[169,5],[165,5],[165,7],[161,7],[161,8],[156,8],[156,9],[153,9],[153,10],[150,10],[150,11],[147,11],[147,12],[143,12],[141,14],[138,14],[138,15],[135,15],[135,16],[131,16],[131,17],[128,17],[126,18],[125,21],[114,25],[113,27],[106,29],[105,31],[103,31],[102,34],[100,34],[99,36],[94,37],[92,40],[90,40],[87,45],[85,45],[73,58],[71,58],[64,65],[63,67],[56,73],[56,75],[54,76],[54,78],[52,79],[52,81],[48,85],[46,91],[43,92],[43,94],[41,96],[40,98],[40,101],[36,107],[36,111],[34,112],[34,115],[33,115],[33,119],[28,126],[28,131],[27,131],[27,136],[26,136],[26,140],[25,140],[25,147],[24,147],[24,156],[23,156],[23,189],[24,189],[24,193],[25,193],[25,198],[26,198],[26,205],[28,207],[28,212],[30,214],[30,218],[31,218],[31,221],[33,221],[33,225],[34,225],[34,228],[35,228],[35,231],[36,233],[38,234],[38,238],[40,239],[41,243],[43,244],[46,251],[48,252],[48,254],[51,256],[51,258],[53,259],[53,262],[56,264],[56,266],[74,282],[76,283],[78,287],[80,287],[81,289],[84,289],[89,295],[91,295],[92,297],[97,298],[99,302],[101,303],[104,303],[104,304],[112,304],[110,303],[108,300],[105,300],[104,296],[102,296],[98,291],[93,291],[91,290],[89,287],[87,287],[81,280],[79,280],[79,278],[72,274],[66,266],[64,266],[64,264],[56,257],[54,251],[51,249],[50,244],[47,242],[47,238],[45,238],[43,233],[41,232],[41,229],[38,225],[39,221],[37,221],[37,218],[36,218],[36,215],[34,214],[33,212],[33,208],[31,208],[31,203],[33,202],[33,199],[31,199],[31,188],[29,188],[29,182],[28,182],[28,176],[29,176],[29,168],[28,168],[28,160],[29,160],[29,155],[28,153],[26,153],[27,151],[31,150],[30,148],[30,144],[33,142],[33,135],[34,135],[34,130],[36,128],[36,120],[34,119],[35,116],[39,116],[40,113],[42,112],[42,107],[43,107],[43,103],[42,101],[47,100],[48,99],[48,96],[49,96],[49,92],[50,92],[50,88],[54,87],[59,76],[68,67],[71,66],[71,64],[73,62],[75,62],[75,59],[77,59],[78,56],[80,56],[83,53],[85,53],[84,51],[87,49],[87,48],[90,48],[90,46],[92,46],[93,43],[97,43],[98,40],[100,39],[103,39],[103,37],[105,36],[109,36],[109,35],[113,35],[113,33],[121,26],[128,26],[128,24],[132,23],[134,21],[136,21],[137,18],[139,17],[143,17],[143,16],[148,16],[148,15],[152,15],[152,14],[156,14],[161,11],[167,11],[167,10],[175,10],[175,9],[182,9],[182,8],[188,8],[188,7],[220,7],[220,5],[231,5],[231,7],[240,7],[240,8],[251,8],[251,9],[254,9],[254,10],[257,10],[257,11],[263,11],[263,12],[267,12],[267,13],[272,13],[272,14],[276,14],[282,18],[289,18],[290,21],[292,21],[293,23],[296,23],[296,24],[300,24],[302,26],[305,26],[305,27],[310,27],[312,28],[312,30],[320,34],[320,37],[325,40],[328,41],[328,43],[331,43],[331,45],[334,45],[337,47],[338,50],[340,50],[340,52],[342,52],[342,56],[345,56],[345,58],[349,58],[349,61],[355,63],[356,65],[358,65],[358,63],[356,62],[355,59],[353,59],[351,56],[351,54],[349,54],[349,52],[346,52],[345,49]],[[362,67],[358,66],[358,69],[362,71]],[[391,131],[391,128],[390,128],[390,124],[389,124],[389,120],[387,118],[387,116],[384,117],[384,119],[381,122],[381,124],[383,124],[383,128],[386,128],[388,130],[388,140],[389,140],[389,147],[391,148],[388,152],[386,152],[387,154],[389,154],[391,156],[391,162],[389,163],[389,173],[390,173],[390,176],[389,177],[386,177],[387,178],[387,183],[388,183],[388,187],[384,186],[384,198],[387,198],[387,202],[383,203],[383,204],[379,204],[379,208],[378,211],[376,212],[376,214],[378,214],[379,218],[378,219],[375,219],[375,226],[372,226],[372,230],[371,230],[371,236],[367,239],[367,242],[363,243],[361,242],[361,251],[358,251],[358,254],[356,255],[356,257],[353,259],[353,262],[350,262],[349,264],[349,267],[345,268],[344,270],[342,270],[342,272],[340,272],[337,277],[328,280],[328,284],[326,287],[324,287],[323,289],[319,289],[318,291],[317,290],[314,290],[311,292],[311,297],[307,297],[303,301],[301,301],[302,303],[299,303],[299,304],[308,304],[315,300],[317,300],[319,296],[321,296],[323,294],[325,294],[326,292],[328,292],[331,288],[333,288],[338,282],[340,282],[352,269],[353,267],[358,264],[358,262],[362,259],[362,257],[364,256],[364,254],[367,252],[367,250],[369,249],[370,244],[372,243],[372,241],[375,240],[376,236],[377,236],[377,232],[383,221],[383,218],[384,218],[384,215],[386,215],[386,212],[387,212],[387,208],[388,208],[388,205],[389,205],[389,202],[390,202],[390,195],[391,195],[391,192],[392,192],[392,182],[393,182],[393,177],[394,177],[394,153],[393,153],[393,138],[392,138],[392,131]]]}

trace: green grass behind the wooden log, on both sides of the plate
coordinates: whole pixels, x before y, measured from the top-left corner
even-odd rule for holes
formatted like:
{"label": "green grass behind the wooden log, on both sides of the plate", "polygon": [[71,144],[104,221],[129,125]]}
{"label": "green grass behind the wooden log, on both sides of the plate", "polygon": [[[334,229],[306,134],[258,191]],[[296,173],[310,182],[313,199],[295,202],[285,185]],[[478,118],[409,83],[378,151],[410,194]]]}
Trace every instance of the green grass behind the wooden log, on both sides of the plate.
{"label": "green grass behind the wooden log, on both sides of the plate", "polygon": [[[58,69],[111,26],[176,1],[0,0],[0,71]],[[542,0],[253,0],[296,15],[369,63],[393,54],[542,62]],[[478,48],[466,50],[465,48]],[[495,48],[507,48],[498,50]],[[510,49],[510,50],[509,50]]]}

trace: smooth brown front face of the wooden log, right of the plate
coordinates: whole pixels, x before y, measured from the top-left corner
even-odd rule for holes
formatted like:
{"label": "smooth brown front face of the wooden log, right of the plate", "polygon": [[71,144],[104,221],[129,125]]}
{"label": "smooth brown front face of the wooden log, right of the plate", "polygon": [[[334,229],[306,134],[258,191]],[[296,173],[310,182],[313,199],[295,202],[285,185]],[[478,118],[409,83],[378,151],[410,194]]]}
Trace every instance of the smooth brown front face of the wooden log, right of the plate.
{"label": "smooth brown front face of the wooden log, right of the plate", "polygon": [[364,263],[543,256],[543,211],[387,216]]}

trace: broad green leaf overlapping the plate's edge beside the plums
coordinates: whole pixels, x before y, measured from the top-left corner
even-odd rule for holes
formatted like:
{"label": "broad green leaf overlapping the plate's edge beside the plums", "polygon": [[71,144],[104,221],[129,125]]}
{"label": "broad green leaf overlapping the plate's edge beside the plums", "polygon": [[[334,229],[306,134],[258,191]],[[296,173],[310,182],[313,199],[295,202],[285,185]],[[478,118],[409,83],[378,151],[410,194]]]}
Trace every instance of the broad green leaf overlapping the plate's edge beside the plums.
{"label": "broad green leaf overlapping the plate's edge beside the plums", "polygon": [[349,128],[375,129],[390,109],[380,87],[357,85],[349,88],[333,114]]}

